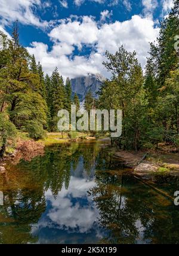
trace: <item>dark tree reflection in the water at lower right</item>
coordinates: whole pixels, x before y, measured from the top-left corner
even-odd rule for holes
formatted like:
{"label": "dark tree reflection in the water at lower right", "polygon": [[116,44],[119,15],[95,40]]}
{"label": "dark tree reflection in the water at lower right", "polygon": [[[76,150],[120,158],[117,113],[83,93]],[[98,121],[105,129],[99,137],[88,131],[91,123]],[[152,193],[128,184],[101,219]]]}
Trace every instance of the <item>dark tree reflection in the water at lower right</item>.
{"label": "dark tree reflection in the water at lower right", "polygon": [[100,211],[98,221],[110,230],[101,242],[179,242],[179,212],[173,202],[120,171],[98,170],[95,184],[90,191]]}

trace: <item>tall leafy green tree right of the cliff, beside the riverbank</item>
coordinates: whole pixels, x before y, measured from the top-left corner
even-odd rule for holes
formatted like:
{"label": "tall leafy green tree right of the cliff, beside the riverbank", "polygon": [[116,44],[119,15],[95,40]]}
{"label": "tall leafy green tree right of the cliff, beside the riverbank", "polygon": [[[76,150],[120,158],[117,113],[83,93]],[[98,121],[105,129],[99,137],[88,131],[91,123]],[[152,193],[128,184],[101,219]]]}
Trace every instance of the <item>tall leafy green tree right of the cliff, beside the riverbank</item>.
{"label": "tall leafy green tree right of the cliff, beside the riverbank", "polygon": [[135,52],[128,53],[123,46],[114,55],[107,51],[106,57],[104,66],[112,73],[112,80],[101,86],[97,105],[101,109],[122,109],[122,137],[116,141],[119,147],[138,150],[148,126],[148,101],[141,66]]}

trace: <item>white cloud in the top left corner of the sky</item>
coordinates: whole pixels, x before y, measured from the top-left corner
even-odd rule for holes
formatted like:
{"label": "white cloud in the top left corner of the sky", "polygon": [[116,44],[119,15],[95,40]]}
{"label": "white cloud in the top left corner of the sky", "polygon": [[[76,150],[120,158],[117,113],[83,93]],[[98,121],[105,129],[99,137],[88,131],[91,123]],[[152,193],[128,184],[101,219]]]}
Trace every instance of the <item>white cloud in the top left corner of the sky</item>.
{"label": "white cloud in the top left corner of the sky", "polygon": [[5,25],[18,20],[25,25],[34,25],[39,28],[48,26],[47,21],[40,20],[35,14],[36,8],[42,8],[41,0],[1,0],[0,17]]}

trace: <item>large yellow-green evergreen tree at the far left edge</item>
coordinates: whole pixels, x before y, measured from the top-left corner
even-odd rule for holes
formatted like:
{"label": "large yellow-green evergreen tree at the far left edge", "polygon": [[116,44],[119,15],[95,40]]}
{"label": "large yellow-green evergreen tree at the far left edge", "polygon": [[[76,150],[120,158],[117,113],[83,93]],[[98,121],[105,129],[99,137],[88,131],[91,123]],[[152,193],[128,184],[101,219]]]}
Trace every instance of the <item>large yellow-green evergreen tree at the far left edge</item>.
{"label": "large yellow-green evergreen tree at the far left edge", "polygon": [[38,93],[39,77],[29,69],[29,53],[19,43],[17,23],[8,41],[8,54],[5,68],[0,69],[1,111],[7,110],[18,128],[26,129],[29,118],[45,127],[47,105]]}

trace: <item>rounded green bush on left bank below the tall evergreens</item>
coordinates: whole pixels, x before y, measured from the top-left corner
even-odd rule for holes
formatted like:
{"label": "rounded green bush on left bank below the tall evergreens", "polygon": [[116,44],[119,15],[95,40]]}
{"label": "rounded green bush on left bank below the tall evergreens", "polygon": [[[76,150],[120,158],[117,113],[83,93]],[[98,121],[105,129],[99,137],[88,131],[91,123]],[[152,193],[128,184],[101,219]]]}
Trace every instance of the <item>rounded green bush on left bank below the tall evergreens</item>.
{"label": "rounded green bush on left bank below the tall evergreens", "polygon": [[42,124],[39,124],[37,121],[29,121],[26,125],[26,131],[32,139],[44,139],[46,136]]}

